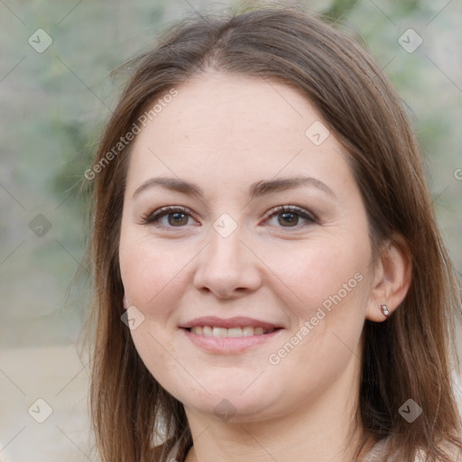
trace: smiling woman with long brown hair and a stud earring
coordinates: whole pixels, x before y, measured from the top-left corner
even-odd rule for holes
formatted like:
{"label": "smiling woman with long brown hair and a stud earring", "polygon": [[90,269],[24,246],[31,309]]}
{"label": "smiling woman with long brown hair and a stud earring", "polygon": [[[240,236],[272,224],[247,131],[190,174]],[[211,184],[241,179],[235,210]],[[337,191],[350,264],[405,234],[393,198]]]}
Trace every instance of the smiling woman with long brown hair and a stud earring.
{"label": "smiling woman with long brown hair and a stud earring", "polygon": [[181,23],[86,176],[105,462],[460,457],[457,280],[356,42],[288,7]]}

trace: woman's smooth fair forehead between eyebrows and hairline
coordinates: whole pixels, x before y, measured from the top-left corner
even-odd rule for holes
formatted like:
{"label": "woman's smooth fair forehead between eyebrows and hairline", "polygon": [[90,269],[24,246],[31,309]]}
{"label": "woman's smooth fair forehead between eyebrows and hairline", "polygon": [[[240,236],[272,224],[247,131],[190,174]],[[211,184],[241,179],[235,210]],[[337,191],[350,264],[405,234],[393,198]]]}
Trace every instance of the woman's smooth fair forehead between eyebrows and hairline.
{"label": "woman's smooth fair forehead between eyebrows and hairline", "polygon": [[137,135],[128,188],[172,173],[210,186],[279,173],[351,177],[346,155],[317,109],[286,85],[209,73],[176,90]]}

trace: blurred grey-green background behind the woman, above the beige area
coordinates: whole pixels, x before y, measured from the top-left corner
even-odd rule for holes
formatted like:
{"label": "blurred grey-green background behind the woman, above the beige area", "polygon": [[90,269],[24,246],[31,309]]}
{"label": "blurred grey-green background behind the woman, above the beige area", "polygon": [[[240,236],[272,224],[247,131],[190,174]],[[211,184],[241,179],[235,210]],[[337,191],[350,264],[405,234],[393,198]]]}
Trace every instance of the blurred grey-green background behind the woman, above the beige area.
{"label": "blurred grey-green background behind the woman, above the beige area", "polygon": [[[245,9],[239,1],[2,1],[0,346],[70,343],[91,284],[79,266],[87,236],[79,182],[128,74],[111,70],[148,50],[185,14]],[[338,20],[383,65],[425,153],[440,226],[462,268],[462,5],[448,0],[305,2]],[[412,28],[413,52],[398,42]],[[38,29],[52,40],[37,52]],[[38,42],[38,39],[35,38]],[[42,37],[43,41],[43,37]],[[43,44],[43,42],[42,42]],[[460,175],[462,176],[462,175]],[[38,222],[30,223],[42,214]],[[45,231],[31,229],[42,221]],[[42,224],[42,225],[43,225]],[[74,277],[77,272],[77,277]],[[71,282],[72,281],[72,282]]]}

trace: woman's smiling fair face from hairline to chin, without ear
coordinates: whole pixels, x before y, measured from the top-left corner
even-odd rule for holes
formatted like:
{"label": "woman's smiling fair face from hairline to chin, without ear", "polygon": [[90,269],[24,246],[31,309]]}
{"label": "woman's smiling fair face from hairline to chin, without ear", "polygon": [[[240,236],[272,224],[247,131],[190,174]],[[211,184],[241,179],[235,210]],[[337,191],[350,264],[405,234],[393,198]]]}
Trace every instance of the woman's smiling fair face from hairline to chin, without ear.
{"label": "woman's smiling fair face from hairline to chin, without ear", "polygon": [[282,84],[210,73],[177,90],[137,136],[125,190],[120,269],[143,363],[217,419],[351,389],[374,276],[347,154]]}

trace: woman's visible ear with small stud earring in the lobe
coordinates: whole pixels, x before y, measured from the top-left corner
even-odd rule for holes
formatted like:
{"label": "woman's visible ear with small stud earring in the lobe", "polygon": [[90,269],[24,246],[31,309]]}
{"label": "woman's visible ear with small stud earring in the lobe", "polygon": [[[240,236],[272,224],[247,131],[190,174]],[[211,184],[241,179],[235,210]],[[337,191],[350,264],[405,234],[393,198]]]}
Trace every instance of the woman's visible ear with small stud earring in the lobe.
{"label": "woman's visible ear with small stud earring in the lobe", "polygon": [[367,304],[365,317],[371,321],[386,320],[380,305],[386,305],[390,313],[396,310],[411,286],[411,254],[404,238],[393,235],[374,262],[374,283]]}

